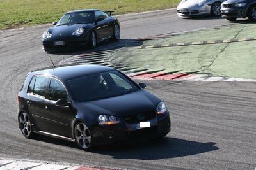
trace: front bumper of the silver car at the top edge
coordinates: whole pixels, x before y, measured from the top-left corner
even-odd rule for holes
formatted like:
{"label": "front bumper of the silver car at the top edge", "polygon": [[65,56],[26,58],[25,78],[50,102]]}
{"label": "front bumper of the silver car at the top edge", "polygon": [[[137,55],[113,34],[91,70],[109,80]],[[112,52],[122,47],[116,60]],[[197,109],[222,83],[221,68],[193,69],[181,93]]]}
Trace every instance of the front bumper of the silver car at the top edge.
{"label": "front bumper of the silver car at the top edge", "polygon": [[211,6],[195,6],[191,8],[177,8],[177,15],[179,17],[193,17],[199,15],[210,15],[211,14]]}

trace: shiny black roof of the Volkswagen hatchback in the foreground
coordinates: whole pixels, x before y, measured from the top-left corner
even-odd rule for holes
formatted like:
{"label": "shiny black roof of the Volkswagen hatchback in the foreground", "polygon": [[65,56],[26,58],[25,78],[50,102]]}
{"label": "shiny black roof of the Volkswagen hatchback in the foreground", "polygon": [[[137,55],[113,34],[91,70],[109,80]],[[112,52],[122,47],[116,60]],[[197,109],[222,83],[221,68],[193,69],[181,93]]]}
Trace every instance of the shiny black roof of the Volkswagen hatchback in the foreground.
{"label": "shiny black roof of the Volkswagen hatchback in the foreground", "polygon": [[38,69],[31,71],[32,74],[45,74],[47,76],[54,76],[61,80],[68,80],[80,76],[86,76],[89,74],[102,73],[104,71],[115,70],[107,66],[99,66],[93,64],[72,64],[63,66],[46,67],[44,69]]}

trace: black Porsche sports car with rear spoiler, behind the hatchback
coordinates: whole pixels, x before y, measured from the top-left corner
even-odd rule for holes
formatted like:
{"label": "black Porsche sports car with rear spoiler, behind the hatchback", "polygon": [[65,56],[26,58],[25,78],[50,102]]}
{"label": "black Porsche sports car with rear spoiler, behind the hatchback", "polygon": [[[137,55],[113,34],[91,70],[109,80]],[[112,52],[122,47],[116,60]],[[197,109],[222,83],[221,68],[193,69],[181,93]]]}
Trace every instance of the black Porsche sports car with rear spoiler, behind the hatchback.
{"label": "black Porsche sports car with rear spoiler, behind the hatchback", "polygon": [[[120,39],[120,23],[111,16],[113,11],[77,10],[63,15],[54,27],[42,35],[45,51],[63,50],[97,43],[106,39]],[[109,13],[109,14],[108,14]]]}

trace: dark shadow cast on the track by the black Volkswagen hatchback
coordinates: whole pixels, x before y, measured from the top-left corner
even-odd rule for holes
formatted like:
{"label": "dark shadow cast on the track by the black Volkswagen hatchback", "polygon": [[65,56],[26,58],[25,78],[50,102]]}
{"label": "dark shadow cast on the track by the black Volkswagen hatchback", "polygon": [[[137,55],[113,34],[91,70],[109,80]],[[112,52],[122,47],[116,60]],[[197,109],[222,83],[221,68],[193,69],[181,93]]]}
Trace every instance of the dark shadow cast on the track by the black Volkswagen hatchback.
{"label": "dark shadow cast on the track by the black Volkswagen hatchback", "polygon": [[[35,140],[79,149],[74,142],[55,139],[48,136],[38,135]],[[218,150],[219,148],[214,145],[216,145],[216,143],[200,143],[196,141],[165,137],[140,143],[99,146],[92,150],[92,152],[109,155],[114,159],[158,160],[185,157]]]}

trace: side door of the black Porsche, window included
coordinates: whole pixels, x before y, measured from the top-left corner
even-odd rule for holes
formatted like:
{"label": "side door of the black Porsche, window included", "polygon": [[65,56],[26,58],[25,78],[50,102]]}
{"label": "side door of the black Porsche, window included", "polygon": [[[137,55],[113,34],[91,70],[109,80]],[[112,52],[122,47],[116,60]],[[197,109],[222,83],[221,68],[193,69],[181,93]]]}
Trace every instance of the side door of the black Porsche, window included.
{"label": "side door of the black Porsche, window included", "polygon": [[95,31],[97,33],[97,40],[102,41],[109,38],[109,26],[108,14],[103,11],[95,11],[96,25]]}

